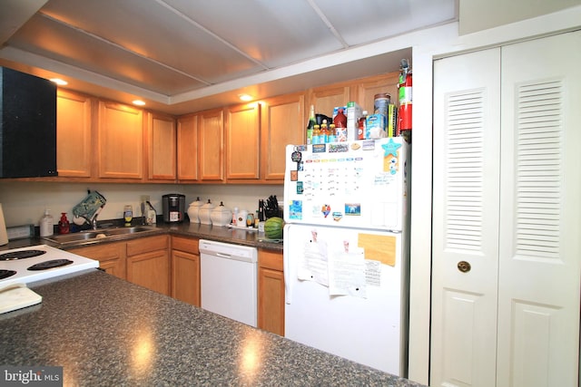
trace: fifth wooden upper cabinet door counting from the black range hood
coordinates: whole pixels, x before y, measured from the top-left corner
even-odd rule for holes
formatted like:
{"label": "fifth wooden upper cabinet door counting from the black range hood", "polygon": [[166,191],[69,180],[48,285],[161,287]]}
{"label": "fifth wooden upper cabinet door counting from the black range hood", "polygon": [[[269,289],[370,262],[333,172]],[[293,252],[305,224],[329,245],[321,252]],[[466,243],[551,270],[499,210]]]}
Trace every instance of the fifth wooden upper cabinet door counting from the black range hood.
{"label": "fifth wooden upper cabinet door counting from the black range hood", "polygon": [[224,113],[222,109],[202,111],[198,121],[199,179],[224,179]]}

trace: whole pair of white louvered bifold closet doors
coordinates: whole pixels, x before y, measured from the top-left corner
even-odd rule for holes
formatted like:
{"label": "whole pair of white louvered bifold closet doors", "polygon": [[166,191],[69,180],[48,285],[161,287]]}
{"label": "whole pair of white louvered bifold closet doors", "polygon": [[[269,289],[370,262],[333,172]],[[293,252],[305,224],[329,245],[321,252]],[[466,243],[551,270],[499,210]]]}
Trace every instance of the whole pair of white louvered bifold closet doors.
{"label": "whole pair of white louvered bifold closet doors", "polygon": [[430,385],[578,385],[580,48],[434,63]]}

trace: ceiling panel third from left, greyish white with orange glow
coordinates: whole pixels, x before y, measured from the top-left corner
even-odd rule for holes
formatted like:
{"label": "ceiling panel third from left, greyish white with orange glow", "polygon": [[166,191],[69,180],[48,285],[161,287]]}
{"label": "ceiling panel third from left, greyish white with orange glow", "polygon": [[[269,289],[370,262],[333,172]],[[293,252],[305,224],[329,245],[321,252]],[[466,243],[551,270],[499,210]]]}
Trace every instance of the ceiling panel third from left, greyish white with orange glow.
{"label": "ceiling panel third from left, greyish white with orange glow", "polygon": [[343,48],[309,2],[165,0],[268,68]]}

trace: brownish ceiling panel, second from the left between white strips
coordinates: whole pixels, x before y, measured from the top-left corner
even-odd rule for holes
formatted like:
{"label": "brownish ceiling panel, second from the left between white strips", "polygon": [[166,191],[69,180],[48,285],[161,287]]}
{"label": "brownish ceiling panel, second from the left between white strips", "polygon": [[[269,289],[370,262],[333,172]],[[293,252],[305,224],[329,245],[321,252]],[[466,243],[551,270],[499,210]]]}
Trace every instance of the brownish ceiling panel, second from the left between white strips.
{"label": "brownish ceiling panel, second from the left between white strips", "polygon": [[167,6],[143,0],[50,1],[45,15],[208,84],[263,68]]}

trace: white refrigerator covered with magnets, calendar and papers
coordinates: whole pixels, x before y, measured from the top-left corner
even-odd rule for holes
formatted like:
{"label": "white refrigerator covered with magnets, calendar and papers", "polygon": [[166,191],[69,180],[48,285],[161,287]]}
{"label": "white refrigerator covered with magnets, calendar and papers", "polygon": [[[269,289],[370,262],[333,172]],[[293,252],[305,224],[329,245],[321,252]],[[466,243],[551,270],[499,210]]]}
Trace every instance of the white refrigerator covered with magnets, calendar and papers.
{"label": "white refrigerator covered with magnets, calendar and papers", "polygon": [[288,145],[285,336],[407,376],[409,145]]}

